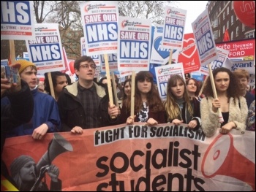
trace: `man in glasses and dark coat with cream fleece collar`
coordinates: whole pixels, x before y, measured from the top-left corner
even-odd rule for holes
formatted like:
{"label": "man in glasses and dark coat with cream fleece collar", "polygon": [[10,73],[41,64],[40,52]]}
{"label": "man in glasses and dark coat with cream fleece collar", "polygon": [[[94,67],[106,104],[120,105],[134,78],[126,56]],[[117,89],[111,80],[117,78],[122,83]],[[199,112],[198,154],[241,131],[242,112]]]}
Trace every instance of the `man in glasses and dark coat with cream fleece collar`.
{"label": "man in glasses and dark coat with cream fleece collar", "polygon": [[108,89],[94,82],[96,65],[89,56],[75,60],[78,81],[67,85],[58,99],[61,131],[83,134],[83,129],[116,124],[118,107],[110,106]]}

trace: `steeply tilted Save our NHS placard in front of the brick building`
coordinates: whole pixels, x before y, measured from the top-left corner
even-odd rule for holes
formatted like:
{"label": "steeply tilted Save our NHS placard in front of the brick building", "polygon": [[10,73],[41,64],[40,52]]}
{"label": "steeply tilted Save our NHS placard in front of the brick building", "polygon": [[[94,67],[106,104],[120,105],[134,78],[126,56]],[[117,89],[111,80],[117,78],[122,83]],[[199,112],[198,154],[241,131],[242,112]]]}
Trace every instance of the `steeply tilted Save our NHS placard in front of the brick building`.
{"label": "steeply tilted Save our NHS placard in front of the brick building", "polygon": [[201,66],[205,66],[210,64],[211,61],[217,60],[217,49],[211,30],[211,21],[208,15],[208,9],[205,9],[192,23],[192,29],[195,36],[195,44],[197,45]]}

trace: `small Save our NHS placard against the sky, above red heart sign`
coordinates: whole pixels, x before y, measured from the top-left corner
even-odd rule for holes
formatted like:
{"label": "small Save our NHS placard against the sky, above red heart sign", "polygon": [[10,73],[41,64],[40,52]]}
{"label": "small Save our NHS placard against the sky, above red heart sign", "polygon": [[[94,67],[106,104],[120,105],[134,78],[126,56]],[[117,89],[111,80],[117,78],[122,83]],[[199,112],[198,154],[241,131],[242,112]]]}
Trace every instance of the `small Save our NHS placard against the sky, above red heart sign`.
{"label": "small Save our NHS placard against the sky, above red heart sign", "polygon": [[162,47],[182,50],[187,10],[165,7],[164,33]]}

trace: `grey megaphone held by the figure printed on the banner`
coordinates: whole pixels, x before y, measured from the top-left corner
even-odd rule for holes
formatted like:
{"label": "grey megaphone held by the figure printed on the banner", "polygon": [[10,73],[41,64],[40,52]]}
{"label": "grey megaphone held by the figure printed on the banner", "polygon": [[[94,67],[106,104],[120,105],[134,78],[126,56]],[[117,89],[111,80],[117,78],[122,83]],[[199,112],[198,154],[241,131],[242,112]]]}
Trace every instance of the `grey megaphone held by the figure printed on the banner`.
{"label": "grey megaphone held by the figure printed on the banner", "polygon": [[37,175],[42,166],[50,165],[56,156],[66,151],[73,151],[72,145],[60,134],[54,133],[53,139],[48,145],[48,150],[42,155],[42,158],[36,165]]}

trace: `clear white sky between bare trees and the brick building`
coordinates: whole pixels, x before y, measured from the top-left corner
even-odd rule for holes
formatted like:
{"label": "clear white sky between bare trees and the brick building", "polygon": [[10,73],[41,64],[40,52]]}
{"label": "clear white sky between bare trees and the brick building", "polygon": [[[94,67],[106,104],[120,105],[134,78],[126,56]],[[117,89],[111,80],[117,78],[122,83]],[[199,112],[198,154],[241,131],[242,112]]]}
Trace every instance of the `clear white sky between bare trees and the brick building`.
{"label": "clear white sky between bare trees and the brick building", "polygon": [[177,1],[176,5],[179,9],[187,10],[185,34],[193,32],[191,23],[206,9],[207,3],[208,1]]}

